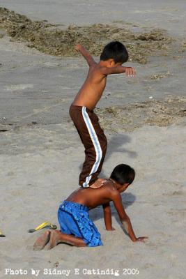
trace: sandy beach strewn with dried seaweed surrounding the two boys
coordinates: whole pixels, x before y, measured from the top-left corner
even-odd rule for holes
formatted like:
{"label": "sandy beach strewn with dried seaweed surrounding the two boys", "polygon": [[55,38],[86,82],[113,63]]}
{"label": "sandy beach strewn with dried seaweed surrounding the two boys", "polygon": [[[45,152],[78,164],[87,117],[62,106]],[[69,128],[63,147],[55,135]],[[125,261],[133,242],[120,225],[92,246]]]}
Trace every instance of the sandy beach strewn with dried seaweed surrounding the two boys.
{"label": "sandy beach strewn with dried seaweed surrounding the two boys", "polygon": [[[1,1],[0,278],[183,279],[185,3],[54,2]],[[119,163],[134,167],[123,204],[134,232],[149,239],[132,243],[113,205],[116,230],[107,232],[100,206],[90,216],[104,246],[33,251],[45,229],[28,229],[59,227],[59,204],[77,188],[84,161],[68,110],[88,67],[73,44],[80,39],[99,61],[114,38],[126,41],[137,77],[110,76],[95,109],[108,139],[101,176]]]}

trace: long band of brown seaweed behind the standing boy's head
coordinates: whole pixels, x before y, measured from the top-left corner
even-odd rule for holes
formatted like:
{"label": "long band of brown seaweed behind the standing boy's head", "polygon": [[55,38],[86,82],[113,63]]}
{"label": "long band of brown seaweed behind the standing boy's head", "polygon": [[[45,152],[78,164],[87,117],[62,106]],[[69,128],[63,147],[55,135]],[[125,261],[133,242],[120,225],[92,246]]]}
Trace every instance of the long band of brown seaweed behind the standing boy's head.
{"label": "long band of brown seaweed behind the standing boy's head", "polygon": [[78,56],[74,46],[82,43],[91,54],[100,56],[104,45],[111,40],[120,40],[127,47],[130,61],[147,63],[148,56],[167,55],[173,38],[162,29],[146,33],[133,33],[125,23],[92,24],[68,28],[45,21],[32,21],[7,8],[0,8],[0,27],[13,41],[26,42],[40,52],[55,56]]}

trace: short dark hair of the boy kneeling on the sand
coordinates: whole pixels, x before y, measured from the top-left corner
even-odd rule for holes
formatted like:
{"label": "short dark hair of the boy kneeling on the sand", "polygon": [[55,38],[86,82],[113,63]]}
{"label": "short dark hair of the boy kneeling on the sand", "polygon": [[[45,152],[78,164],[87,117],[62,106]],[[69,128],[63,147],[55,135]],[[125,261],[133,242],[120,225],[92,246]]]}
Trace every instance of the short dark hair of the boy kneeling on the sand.
{"label": "short dark hair of the boy kneeling on the sand", "polygon": [[117,183],[123,185],[124,183],[131,184],[135,177],[135,171],[129,165],[120,164],[114,167],[110,178]]}

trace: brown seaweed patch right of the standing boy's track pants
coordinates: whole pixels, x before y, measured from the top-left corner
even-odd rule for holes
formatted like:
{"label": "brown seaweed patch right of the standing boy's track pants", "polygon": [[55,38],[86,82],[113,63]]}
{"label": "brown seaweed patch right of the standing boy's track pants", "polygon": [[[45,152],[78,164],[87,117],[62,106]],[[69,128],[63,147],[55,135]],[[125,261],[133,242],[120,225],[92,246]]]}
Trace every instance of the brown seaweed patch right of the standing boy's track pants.
{"label": "brown seaweed patch right of the standing boy's track pants", "polygon": [[186,97],[153,98],[141,103],[96,108],[95,112],[102,128],[114,133],[131,132],[145,125],[169,126],[180,123],[186,116]]}

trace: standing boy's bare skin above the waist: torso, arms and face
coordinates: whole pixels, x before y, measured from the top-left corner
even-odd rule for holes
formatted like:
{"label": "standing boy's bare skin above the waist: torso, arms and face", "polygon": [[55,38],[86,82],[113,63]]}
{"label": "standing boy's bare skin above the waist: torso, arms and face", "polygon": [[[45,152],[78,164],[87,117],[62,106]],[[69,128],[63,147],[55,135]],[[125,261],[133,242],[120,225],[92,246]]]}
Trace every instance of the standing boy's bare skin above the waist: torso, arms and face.
{"label": "standing boy's bare skin above the waist: torso, arms and face", "polygon": [[113,59],[96,63],[91,54],[82,45],[76,45],[75,50],[82,53],[88,63],[89,70],[86,80],[77,93],[72,105],[87,107],[89,110],[93,110],[102,96],[107,83],[107,75],[116,73],[134,75],[133,68],[123,67],[121,63],[114,63]]}

